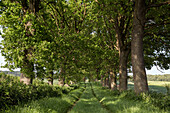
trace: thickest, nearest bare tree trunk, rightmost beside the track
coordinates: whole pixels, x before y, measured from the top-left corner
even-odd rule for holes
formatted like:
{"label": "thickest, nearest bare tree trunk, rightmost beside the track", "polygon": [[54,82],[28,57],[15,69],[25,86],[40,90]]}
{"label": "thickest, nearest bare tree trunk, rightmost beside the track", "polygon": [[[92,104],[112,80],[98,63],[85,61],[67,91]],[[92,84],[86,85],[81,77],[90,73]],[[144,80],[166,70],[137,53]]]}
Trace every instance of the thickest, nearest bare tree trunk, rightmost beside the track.
{"label": "thickest, nearest bare tree trunk, rightmost beside the track", "polygon": [[145,13],[145,0],[136,0],[131,42],[131,60],[134,77],[134,90],[137,94],[148,92],[143,54]]}

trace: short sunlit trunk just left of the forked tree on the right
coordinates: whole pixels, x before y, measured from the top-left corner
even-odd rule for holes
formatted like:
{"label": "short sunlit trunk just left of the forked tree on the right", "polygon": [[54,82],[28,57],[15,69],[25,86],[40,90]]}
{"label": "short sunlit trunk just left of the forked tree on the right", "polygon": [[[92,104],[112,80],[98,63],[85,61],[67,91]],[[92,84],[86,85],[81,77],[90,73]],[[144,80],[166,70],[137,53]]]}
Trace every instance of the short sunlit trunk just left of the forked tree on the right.
{"label": "short sunlit trunk just left of the forked tree on the right", "polygon": [[109,88],[112,90],[117,90],[117,79],[116,79],[116,73],[113,71],[110,71],[110,84]]}

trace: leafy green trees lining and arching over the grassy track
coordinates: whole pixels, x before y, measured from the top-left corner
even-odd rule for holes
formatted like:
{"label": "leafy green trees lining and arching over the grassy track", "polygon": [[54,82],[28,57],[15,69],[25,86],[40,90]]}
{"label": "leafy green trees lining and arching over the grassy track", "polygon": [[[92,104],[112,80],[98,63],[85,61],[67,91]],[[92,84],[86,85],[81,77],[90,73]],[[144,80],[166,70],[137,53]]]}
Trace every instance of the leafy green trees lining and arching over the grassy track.
{"label": "leafy green trees lining and arching over the grassy track", "polygon": [[[147,92],[145,67],[169,69],[169,1],[3,0],[5,67],[21,68],[53,84],[109,77],[110,88],[127,90],[133,69],[135,92]],[[131,59],[131,60],[130,60]],[[145,63],[144,63],[145,62]]]}

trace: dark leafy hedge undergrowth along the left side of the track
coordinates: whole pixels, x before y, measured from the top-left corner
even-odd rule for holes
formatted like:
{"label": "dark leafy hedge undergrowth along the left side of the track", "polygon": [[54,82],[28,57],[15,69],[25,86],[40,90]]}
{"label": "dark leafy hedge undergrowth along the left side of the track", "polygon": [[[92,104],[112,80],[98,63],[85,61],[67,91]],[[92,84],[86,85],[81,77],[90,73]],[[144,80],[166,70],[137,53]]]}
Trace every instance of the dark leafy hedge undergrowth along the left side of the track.
{"label": "dark leafy hedge undergrowth along the left side of the track", "polygon": [[78,88],[78,85],[60,87],[50,86],[41,82],[26,85],[21,83],[18,77],[0,74],[0,108],[44,97],[58,97],[76,88]]}

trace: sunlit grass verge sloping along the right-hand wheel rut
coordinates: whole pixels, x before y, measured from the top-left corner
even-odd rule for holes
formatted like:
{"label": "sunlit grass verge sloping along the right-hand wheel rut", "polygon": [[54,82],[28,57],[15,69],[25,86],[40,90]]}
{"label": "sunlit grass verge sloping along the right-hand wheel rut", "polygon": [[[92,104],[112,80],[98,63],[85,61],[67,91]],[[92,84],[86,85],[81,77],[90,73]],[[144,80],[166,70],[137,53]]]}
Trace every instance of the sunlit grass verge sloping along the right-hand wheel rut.
{"label": "sunlit grass verge sloping along the right-hand wheel rut", "polygon": [[135,101],[125,98],[124,94],[119,96],[109,89],[102,89],[100,86],[93,85],[93,90],[97,98],[103,105],[112,111],[112,113],[168,113],[168,111],[145,103],[143,101]]}

